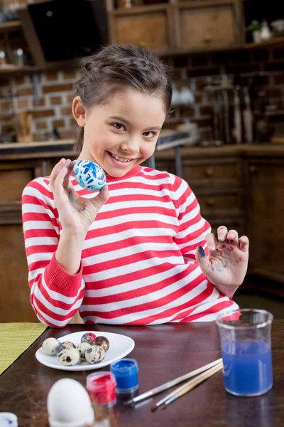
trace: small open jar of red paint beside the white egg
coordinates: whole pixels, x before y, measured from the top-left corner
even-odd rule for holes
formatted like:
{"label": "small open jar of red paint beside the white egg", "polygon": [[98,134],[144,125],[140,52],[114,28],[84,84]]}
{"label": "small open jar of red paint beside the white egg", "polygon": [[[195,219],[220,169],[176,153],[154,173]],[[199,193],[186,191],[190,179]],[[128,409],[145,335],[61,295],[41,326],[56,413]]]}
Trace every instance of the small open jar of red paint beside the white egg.
{"label": "small open jar of red paint beside the white egg", "polygon": [[108,371],[94,372],[87,376],[86,389],[91,401],[111,408],[116,404],[116,379]]}

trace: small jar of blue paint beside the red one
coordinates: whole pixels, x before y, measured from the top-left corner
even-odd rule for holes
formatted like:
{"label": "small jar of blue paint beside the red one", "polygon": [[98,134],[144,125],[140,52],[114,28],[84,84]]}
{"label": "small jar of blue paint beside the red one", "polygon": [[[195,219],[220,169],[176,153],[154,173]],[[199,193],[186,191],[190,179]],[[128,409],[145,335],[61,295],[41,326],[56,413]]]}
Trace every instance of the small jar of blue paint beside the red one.
{"label": "small jar of blue paint beside the red one", "polygon": [[138,389],[138,364],[135,359],[113,362],[110,371],[116,378],[116,394],[132,393]]}

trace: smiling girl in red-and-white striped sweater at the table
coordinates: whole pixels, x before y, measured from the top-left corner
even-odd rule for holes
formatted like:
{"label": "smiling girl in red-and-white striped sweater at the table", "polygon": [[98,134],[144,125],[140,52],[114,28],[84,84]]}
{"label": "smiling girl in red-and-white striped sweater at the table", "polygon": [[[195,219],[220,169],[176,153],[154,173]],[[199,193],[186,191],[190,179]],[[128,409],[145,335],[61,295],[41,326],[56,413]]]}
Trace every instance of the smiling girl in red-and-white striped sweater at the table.
{"label": "smiling girl in red-and-white striped sweater at the table", "polygon": [[[248,263],[249,241],[218,229],[218,241],[185,181],[141,167],[170,109],[168,70],[134,46],[87,58],[72,112],[78,159],[99,164],[107,185],[89,193],[61,159],[23,191],[23,230],[38,319],[153,325],[215,320]],[[208,248],[208,249],[207,249]]]}

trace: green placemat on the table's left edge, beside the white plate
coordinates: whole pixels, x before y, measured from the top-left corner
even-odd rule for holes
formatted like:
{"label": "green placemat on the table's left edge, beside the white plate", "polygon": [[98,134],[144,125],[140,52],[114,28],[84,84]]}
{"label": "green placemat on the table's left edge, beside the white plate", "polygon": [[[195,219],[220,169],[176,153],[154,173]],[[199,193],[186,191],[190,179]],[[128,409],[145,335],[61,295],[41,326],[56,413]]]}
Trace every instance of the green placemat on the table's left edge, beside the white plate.
{"label": "green placemat on the table's left edge, beside the white plate", "polygon": [[0,374],[18,359],[46,328],[42,323],[1,323]]}

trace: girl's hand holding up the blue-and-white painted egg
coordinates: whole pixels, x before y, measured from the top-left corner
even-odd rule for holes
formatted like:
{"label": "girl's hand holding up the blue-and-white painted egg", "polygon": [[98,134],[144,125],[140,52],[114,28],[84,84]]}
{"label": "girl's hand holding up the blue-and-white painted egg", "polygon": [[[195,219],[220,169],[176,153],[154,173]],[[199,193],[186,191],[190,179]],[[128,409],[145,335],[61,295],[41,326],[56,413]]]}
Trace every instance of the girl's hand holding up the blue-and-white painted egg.
{"label": "girl's hand holding up the blue-and-white painted egg", "polygon": [[70,159],[61,159],[50,174],[50,187],[62,230],[84,238],[99,209],[109,199],[109,191],[105,185],[91,199],[79,196],[70,182],[74,164]]}

